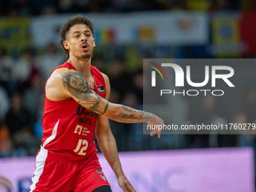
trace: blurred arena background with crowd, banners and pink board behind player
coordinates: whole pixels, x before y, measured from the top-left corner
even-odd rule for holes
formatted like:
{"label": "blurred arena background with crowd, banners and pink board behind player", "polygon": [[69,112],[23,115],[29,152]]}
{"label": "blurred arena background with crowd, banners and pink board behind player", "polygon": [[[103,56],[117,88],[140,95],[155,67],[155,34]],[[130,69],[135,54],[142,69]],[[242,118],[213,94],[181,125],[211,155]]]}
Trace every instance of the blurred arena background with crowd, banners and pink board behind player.
{"label": "blurred arena background with crowd, banners and pink board behind player", "polygon": [[[92,65],[108,75],[110,101],[133,108],[143,108],[143,58],[256,56],[253,0],[1,1],[0,191],[29,191],[41,145],[44,84],[66,61],[59,28],[75,14],[94,23]],[[232,95],[184,96],[173,115],[180,123],[256,123],[256,62],[236,68]],[[254,191],[254,134],[157,139],[143,135],[142,124],[110,123],[137,191]],[[100,150],[99,159],[113,191],[120,191]]]}

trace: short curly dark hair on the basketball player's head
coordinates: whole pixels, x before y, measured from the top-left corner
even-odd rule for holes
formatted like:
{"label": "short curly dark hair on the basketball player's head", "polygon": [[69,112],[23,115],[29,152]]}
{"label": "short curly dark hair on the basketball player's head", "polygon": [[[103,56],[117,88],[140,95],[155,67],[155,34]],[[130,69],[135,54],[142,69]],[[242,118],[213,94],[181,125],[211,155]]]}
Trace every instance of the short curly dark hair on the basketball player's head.
{"label": "short curly dark hair on the basketball player's head", "polygon": [[63,41],[66,41],[66,37],[67,37],[67,34],[69,32],[69,29],[72,28],[72,26],[75,26],[77,24],[87,25],[90,28],[90,30],[92,31],[93,35],[94,35],[93,23],[87,17],[84,17],[81,14],[70,17],[69,20],[67,20],[62,25],[62,27],[59,29],[59,36],[61,38],[61,40],[59,41],[59,44],[63,48],[65,56],[66,56],[67,59],[69,59],[69,50],[67,50],[63,46]]}

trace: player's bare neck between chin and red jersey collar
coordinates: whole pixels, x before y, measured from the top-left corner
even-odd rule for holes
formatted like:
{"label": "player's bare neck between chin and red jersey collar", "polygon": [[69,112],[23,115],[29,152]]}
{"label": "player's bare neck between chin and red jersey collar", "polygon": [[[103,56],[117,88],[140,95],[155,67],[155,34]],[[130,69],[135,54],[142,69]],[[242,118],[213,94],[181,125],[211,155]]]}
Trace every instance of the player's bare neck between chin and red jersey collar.
{"label": "player's bare neck between chin and red jersey collar", "polygon": [[75,69],[78,70],[78,72],[81,72],[85,78],[89,79],[90,76],[92,75],[90,72],[91,58],[81,60],[81,59],[72,57],[72,58],[69,58],[67,62],[71,63],[72,66],[74,66]]}

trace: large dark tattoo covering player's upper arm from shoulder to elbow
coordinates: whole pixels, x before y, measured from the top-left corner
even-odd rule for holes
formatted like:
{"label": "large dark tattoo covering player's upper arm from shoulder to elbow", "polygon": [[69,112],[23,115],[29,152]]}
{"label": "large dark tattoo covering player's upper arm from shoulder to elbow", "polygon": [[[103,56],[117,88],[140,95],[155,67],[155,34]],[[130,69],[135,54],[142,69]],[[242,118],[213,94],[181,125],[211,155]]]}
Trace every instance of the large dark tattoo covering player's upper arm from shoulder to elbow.
{"label": "large dark tattoo covering player's upper arm from shoulder to elbow", "polygon": [[87,79],[80,72],[66,72],[61,75],[62,84],[76,98],[81,100],[81,105],[87,105],[90,111],[102,114],[108,108],[108,103],[103,109],[99,103],[102,97],[90,89]]}

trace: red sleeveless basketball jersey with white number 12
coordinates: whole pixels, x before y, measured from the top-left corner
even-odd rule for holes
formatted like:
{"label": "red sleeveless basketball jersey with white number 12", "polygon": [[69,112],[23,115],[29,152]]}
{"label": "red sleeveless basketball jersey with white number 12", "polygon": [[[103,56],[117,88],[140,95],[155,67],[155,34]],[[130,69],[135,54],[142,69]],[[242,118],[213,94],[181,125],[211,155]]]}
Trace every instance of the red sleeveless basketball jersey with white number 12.
{"label": "red sleeveless basketball jersey with white number 12", "polygon": [[[75,69],[69,62],[55,69],[59,68]],[[96,84],[91,89],[105,98],[105,81],[101,72],[94,66],[90,66],[90,70]],[[45,96],[41,147],[66,160],[82,160],[95,155],[93,136],[98,117],[99,114],[82,107],[74,99],[51,101]]]}

